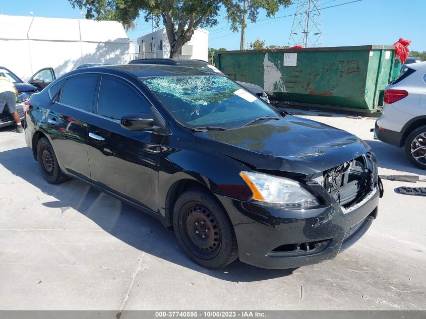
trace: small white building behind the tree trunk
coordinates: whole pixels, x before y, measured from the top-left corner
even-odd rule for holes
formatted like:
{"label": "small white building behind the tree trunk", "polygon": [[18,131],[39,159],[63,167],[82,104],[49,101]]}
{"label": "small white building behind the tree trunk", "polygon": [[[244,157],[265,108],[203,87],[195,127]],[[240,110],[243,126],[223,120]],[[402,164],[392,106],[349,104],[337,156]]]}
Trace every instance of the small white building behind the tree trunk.
{"label": "small white building behind the tree trunk", "polygon": [[[138,38],[138,58],[167,58],[170,56],[170,45],[165,28],[151,32]],[[209,31],[196,29],[189,42],[182,46],[179,58],[200,59],[207,61],[209,49]]]}

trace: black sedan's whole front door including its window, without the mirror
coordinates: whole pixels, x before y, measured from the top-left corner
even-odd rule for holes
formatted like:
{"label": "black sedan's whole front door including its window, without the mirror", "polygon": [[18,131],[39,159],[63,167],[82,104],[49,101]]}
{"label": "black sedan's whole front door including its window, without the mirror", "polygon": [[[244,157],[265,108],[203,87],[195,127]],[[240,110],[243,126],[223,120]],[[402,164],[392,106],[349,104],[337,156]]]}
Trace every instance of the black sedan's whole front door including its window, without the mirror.
{"label": "black sedan's whole front door including its window, without the mirror", "polygon": [[93,116],[88,125],[91,179],[157,212],[163,135],[121,127],[120,118],[132,113],[151,114],[151,105],[133,84],[103,76],[97,116]]}

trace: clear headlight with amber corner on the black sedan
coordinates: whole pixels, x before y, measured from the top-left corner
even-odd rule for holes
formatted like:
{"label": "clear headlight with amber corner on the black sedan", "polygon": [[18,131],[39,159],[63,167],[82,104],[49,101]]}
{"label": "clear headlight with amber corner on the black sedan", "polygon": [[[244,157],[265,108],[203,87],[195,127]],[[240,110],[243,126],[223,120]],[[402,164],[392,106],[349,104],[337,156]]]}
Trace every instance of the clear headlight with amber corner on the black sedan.
{"label": "clear headlight with amber corner on the black sedan", "polygon": [[254,172],[240,172],[253,193],[253,200],[277,208],[311,208],[319,203],[307,189],[291,179]]}

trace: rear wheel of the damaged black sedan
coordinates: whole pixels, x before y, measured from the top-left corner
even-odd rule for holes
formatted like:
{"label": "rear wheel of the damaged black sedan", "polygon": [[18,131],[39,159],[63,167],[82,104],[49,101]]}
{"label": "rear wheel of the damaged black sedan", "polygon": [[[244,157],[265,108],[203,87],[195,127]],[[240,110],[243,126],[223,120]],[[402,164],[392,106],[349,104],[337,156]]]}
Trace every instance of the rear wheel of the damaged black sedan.
{"label": "rear wheel of the damaged black sedan", "polygon": [[58,184],[71,179],[59,168],[52,145],[46,138],[37,143],[37,162],[41,175],[50,184]]}

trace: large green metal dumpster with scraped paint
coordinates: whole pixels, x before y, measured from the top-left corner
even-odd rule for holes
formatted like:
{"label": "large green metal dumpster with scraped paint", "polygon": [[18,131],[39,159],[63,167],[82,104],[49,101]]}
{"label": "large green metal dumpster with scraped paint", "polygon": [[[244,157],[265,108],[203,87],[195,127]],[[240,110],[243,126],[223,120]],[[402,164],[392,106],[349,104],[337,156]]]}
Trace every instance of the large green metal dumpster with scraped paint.
{"label": "large green metal dumpster with scraped paint", "polygon": [[220,51],[216,67],[231,79],[261,86],[272,100],[305,107],[376,112],[401,68],[383,45]]}

